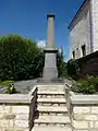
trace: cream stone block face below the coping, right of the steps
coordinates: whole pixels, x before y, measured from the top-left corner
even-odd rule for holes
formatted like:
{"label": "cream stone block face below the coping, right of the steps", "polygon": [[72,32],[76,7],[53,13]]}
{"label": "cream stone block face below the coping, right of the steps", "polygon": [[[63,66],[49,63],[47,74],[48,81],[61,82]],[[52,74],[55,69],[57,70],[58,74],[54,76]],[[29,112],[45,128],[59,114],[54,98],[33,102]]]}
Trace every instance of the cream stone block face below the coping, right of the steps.
{"label": "cream stone block face below the coping, right of the steps", "polygon": [[73,106],[73,131],[98,131],[98,105]]}

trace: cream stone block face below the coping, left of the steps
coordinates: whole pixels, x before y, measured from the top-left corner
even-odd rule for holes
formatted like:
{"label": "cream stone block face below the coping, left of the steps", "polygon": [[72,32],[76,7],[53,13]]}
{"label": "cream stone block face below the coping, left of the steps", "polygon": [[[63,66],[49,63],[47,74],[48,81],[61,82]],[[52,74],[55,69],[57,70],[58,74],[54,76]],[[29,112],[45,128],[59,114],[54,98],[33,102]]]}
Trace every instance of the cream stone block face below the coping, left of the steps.
{"label": "cream stone block face below the coping, left of the steps", "polygon": [[28,131],[29,105],[0,105],[0,130]]}

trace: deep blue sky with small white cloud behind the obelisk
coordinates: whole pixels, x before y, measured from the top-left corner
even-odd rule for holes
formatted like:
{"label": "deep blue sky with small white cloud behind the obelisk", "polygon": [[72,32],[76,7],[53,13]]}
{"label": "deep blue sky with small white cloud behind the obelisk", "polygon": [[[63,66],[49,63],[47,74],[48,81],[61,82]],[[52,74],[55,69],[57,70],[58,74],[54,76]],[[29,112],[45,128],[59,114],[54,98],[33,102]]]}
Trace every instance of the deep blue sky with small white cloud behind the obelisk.
{"label": "deep blue sky with small white cloud behind the obelisk", "polygon": [[46,44],[47,14],[54,13],[54,44],[69,59],[68,26],[84,0],[0,0],[0,36],[17,34]]}

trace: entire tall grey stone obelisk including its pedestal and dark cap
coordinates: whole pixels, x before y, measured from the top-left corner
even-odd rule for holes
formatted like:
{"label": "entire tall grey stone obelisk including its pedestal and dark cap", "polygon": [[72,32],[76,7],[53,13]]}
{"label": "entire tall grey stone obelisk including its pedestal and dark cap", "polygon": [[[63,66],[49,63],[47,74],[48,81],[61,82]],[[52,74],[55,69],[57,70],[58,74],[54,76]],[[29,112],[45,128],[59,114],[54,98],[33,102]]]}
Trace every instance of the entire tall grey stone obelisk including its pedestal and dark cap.
{"label": "entire tall grey stone obelisk including its pedestal and dark cap", "polygon": [[42,80],[46,82],[53,82],[58,79],[57,70],[57,52],[54,48],[54,14],[48,14],[48,28],[47,28],[47,44],[45,52],[45,67],[42,72]]}

